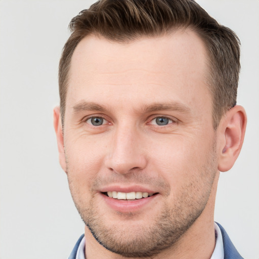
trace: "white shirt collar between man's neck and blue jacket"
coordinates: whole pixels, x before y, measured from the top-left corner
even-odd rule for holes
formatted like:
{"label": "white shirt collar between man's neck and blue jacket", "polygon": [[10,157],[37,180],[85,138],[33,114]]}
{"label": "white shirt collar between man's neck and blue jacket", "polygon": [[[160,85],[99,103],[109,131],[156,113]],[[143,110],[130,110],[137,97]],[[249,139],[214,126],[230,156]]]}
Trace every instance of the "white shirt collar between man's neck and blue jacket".
{"label": "white shirt collar between man's neck and blue jacket", "polygon": [[[214,228],[215,228],[216,245],[210,259],[224,259],[224,247],[223,247],[221,230],[216,223],[214,223]],[[83,239],[81,240],[78,246],[75,259],[86,259],[84,256],[84,247],[85,247],[85,238],[83,237]]]}

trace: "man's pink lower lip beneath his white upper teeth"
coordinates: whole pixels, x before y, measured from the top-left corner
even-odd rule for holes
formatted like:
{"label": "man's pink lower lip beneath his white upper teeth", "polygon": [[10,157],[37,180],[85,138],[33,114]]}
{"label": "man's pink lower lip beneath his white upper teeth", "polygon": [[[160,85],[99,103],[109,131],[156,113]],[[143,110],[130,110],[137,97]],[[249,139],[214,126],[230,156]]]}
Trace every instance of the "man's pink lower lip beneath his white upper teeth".
{"label": "man's pink lower lip beneath his white upper teeth", "polygon": [[144,206],[147,206],[152,201],[154,201],[159,194],[155,194],[147,198],[135,199],[135,200],[118,200],[118,199],[110,198],[102,193],[101,195],[104,201],[106,202],[106,204],[108,204],[108,206],[110,206],[113,210],[116,210],[121,213],[129,213],[129,212],[138,211],[142,209]]}

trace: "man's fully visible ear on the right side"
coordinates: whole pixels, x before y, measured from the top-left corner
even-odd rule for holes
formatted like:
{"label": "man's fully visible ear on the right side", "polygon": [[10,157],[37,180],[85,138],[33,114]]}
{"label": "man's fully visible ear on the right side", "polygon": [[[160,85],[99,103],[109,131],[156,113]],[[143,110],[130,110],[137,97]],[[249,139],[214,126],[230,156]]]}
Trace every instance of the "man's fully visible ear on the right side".
{"label": "man's fully visible ear on the right side", "polygon": [[218,137],[221,139],[219,146],[219,164],[220,171],[228,171],[235,163],[243,145],[246,114],[242,106],[236,105],[227,111],[222,118]]}

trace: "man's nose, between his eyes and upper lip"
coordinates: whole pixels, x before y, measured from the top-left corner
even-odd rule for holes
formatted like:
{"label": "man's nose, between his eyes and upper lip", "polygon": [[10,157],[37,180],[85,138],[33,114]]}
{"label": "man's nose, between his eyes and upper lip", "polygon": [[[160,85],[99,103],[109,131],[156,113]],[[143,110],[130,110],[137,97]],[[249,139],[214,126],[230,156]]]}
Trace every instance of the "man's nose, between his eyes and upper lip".
{"label": "man's nose, between his eyes and upper lip", "polygon": [[105,166],[117,174],[128,174],[142,170],[147,165],[144,154],[143,136],[127,125],[117,127],[108,151]]}

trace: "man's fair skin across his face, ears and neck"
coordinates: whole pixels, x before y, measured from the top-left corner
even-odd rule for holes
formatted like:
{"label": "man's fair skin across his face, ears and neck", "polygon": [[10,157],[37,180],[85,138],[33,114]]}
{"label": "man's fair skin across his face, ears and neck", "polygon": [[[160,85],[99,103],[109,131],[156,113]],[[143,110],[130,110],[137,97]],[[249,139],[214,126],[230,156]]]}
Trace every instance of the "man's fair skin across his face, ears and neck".
{"label": "man's fair skin across his face, ears and neck", "polygon": [[[190,30],[128,44],[93,35],[79,42],[64,128],[59,107],[54,125],[61,166],[89,226],[88,259],[210,258],[219,170],[234,164],[246,116],[236,106],[213,130],[207,63]],[[91,124],[93,117],[103,124]],[[137,208],[116,200],[114,208],[103,194],[109,188],[156,195]]]}

